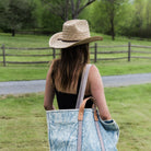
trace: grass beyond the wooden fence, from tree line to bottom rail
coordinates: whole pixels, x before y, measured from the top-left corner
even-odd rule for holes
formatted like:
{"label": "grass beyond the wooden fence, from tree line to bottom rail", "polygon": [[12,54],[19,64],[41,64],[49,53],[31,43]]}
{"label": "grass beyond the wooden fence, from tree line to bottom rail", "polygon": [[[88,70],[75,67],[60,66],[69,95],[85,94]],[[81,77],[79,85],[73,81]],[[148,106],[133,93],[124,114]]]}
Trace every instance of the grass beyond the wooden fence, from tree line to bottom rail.
{"label": "grass beyond the wooden fence, from tree line to bottom rail", "polygon": [[[92,35],[101,35],[96,33],[92,33]],[[11,37],[9,34],[0,34],[0,45],[4,44],[5,47],[48,47],[49,36],[36,36],[36,35],[16,35],[16,37]],[[150,42],[146,40],[130,40],[124,37],[116,37],[116,40],[112,40],[109,36],[103,35],[104,40],[97,42],[98,46],[115,46],[115,45],[126,45],[126,47],[114,47],[114,48],[97,48],[97,51],[106,51],[106,50],[128,50],[128,42],[131,42],[132,45],[144,45],[151,46]],[[94,43],[91,43],[91,46],[94,46]],[[132,50],[144,50],[144,48],[132,48]],[[148,50],[148,49],[146,49]],[[150,49],[151,50],[151,49]],[[94,48],[91,48],[90,51],[94,51]],[[7,49],[5,54],[13,55],[46,55],[53,54],[51,49],[48,50],[9,50]],[[97,58],[116,58],[116,57],[127,57],[128,54],[103,54],[97,55]],[[136,54],[131,54],[131,56],[136,56]],[[137,54],[137,56],[149,57],[151,55],[146,54]],[[51,60],[53,57],[15,57],[15,56],[7,56],[5,58],[9,61],[48,61]],[[91,59],[94,59],[94,55],[91,55]]]}

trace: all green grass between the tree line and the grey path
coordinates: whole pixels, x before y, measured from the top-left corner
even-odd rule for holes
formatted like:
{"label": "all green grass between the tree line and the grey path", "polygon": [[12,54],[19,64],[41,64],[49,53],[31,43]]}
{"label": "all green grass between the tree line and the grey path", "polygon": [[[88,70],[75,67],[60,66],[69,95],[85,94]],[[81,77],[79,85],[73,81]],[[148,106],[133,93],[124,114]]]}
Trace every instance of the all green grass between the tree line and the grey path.
{"label": "all green grass between the tree line and the grey path", "polygon": [[[92,35],[101,35],[96,33],[92,33]],[[151,46],[150,42],[146,40],[133,40],[128,39],[126,37],[116,37],[115,40],[112,40],[111,36],[102,35],[104,40],[97,42],[100,46],[113,46],[113,45],[128,45],[128,42],[131,42],[133,45],[144,45]],[[0,33],[0,46],[2,44],[5,47],[48,47],[49,36],[37,36],[37,35],[19,35],[12,37],[11,34],[2,34]],[[94,45],[92,43],[91,45]],[[114,47],[114,48],[98,48],[98,51],[106,50],[127,50],[127,47]],[[131,48],[150,51],[151,49],[144,48]],[[92,48],[90,51],[94,51]],[[0,54],[2,50],[0,49]],[[7,54],[16,54],[16,55],[35,55],[35,54],[49,54],[51,55],[51,49],[48,50],[13,50],[7,49]],[[136,54],[131,54],[133,56]],[[151,57],[147,54],[137,54],[137,56]],[[114,58],[114,57],[127,57],[127,54],[112,54],[112,55],[102,55],[100,54],[97,58]],[[51,60],[51,56],[47,57],[14,57],[7,56],[5,60],[8,61],[49,61]],[[94,59],[94,55],[91,54],[91,59]],[[0,56],[0,61],[2,61],[2,56]],[[92,61],[93,63],[93,61]],[[113,76],[113,74],[128,74],[128,73],[143,73],[151,72],[151,61],[150,59],[135,59],[131,58],[131,61],[128,62],[127,59],[124,60],[106,60],[106,61],[97,61],[97,68],[100,69],[102,76]],[[48,70],[48,63],[43,65],[11,65],[7,63],[7,67],[2,67],[0,63],[0,81],[14,81],[14,80],[36,80],[36,79],[45,79]]]}

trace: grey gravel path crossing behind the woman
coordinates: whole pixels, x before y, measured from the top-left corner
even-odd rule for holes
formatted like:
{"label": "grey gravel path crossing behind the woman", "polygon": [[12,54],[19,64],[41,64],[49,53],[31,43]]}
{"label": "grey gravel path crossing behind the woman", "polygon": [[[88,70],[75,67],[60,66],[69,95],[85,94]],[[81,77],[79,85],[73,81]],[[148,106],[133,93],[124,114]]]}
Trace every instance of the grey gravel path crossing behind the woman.
{"label": "grey gravel path crossing behind the woman", "polygon": [[[105,88],[151,83],[151,73],[102,77]],[[0,82],[0,95],[44,92],[45,80]]]}

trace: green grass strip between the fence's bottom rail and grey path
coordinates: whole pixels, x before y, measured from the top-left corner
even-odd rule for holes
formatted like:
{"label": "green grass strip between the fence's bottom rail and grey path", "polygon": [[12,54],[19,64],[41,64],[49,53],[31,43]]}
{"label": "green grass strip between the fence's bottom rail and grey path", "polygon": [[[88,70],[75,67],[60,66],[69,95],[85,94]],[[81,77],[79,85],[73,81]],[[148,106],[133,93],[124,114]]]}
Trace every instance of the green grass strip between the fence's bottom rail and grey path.
{"label": "green grass strip between the fence's bottom rail and grey path", "polygon": [[[101,61],[96,63],[102,76],[151,72],[151,63],[146,61]],[[0,81],[46,79],[49,65],[0,67]]]}

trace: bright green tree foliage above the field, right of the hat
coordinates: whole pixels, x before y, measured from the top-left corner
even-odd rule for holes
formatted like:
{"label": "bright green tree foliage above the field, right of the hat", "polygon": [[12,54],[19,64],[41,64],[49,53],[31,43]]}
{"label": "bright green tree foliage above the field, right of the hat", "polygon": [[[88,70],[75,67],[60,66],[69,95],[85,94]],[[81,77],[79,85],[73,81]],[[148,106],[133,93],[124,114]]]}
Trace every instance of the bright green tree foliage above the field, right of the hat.
{"label": "bright green tree foliage above the field, right of the hat", "polygon": [[90,22],[91,30],[111,35],[113,19],[115,35],[151,37],[150,0],[114,0],[114,4],[109,4],[111,2],[95,1],[84,10],[82,19]]}

